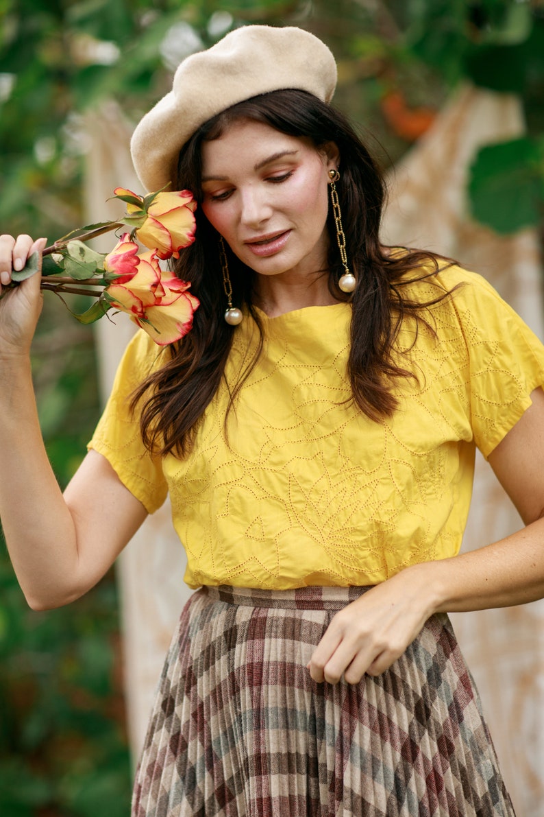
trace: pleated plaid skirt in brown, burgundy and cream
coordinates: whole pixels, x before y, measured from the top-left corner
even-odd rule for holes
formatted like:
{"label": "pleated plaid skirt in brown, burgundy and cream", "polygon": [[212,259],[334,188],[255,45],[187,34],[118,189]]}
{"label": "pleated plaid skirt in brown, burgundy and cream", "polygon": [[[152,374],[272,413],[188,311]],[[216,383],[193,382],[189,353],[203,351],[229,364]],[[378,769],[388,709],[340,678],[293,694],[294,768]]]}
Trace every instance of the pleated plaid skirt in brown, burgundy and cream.
{"label": "pleated plaid skirt in brown, burgundy and cream", "polygon": [[306,668],[365,588],[204,587],[161,676],[132,817],[511,817],[445,614],[357,685]]}

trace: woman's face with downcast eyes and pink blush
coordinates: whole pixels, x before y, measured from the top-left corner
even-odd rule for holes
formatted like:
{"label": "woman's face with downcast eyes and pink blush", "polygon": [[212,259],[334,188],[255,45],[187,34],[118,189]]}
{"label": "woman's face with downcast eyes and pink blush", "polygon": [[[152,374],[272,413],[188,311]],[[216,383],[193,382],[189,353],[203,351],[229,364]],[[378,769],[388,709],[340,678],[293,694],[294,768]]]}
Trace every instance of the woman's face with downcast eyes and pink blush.
{"label": "woman's face with downcast eyes and pink blush", "polygon": [[260,275],[305,276],[327,264],[329,170],[335,145],[248,119],[202,145],[202,210],[232,252]]}

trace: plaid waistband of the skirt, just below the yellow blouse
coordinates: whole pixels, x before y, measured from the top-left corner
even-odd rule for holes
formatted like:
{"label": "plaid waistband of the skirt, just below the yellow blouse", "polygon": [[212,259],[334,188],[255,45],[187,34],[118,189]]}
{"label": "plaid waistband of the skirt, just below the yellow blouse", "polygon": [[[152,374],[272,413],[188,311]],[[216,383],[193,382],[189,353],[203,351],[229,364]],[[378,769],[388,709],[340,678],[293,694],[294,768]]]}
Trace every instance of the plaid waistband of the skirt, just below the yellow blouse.
{"label": "plaid waistband of the skirt, just below the yellow blouse", "polygon": [[254,587],[205,585],[197,592],[211,600],[248,607],[278,609],[339,610],[355,601],[371,587],[298,587],[296,590],[261,590]]}

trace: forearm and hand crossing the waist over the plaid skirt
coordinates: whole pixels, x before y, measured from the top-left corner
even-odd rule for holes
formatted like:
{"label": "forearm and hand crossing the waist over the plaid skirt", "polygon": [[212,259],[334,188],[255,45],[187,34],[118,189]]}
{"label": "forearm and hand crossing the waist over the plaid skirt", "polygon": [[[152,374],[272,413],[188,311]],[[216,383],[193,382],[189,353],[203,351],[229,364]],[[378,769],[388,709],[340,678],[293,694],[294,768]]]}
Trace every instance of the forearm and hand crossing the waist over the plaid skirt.
{"label": "forearm and hand crossing the waist over the plaid skirt", "polygon": [[308,669],[356,684],[384,672],[433,613],[519,605],[544,596],[544,519],[488,547],[413,565],[334,615]]}

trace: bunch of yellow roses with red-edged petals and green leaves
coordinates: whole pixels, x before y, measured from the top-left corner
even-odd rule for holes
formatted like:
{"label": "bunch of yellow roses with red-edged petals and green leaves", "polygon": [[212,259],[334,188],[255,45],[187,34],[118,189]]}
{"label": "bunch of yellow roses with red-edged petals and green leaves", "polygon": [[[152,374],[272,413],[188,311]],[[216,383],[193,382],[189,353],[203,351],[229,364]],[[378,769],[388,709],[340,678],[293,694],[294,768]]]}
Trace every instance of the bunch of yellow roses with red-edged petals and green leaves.
{"label": "bunch of yellow roses with red-edged petals and green leaves", "polygon": [[[63,301],[64,294],[94,295],[90,309],[82,315],[72,312],[83,324],[93,323],[108,310],[126,312],[156,343],[166,346],[190,331],[199,302],[188,292],[190,284],[161,269],[159,261],[179,258],[179,250],[192,244],[197,204],[188,190],[142,197],[117,187],[113,194],[126,203],[125,215],[73,230],[46,247],[41,287]],[[112,252],[95,252],[85,243],[123,226],[130,232],[122,234]],[[139,252],[136,242],[148,252]],[[12,273],[13,285],[37,271],[34,254],[23,270]]]}

